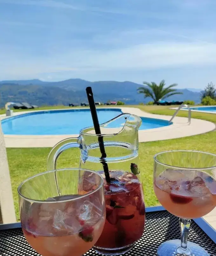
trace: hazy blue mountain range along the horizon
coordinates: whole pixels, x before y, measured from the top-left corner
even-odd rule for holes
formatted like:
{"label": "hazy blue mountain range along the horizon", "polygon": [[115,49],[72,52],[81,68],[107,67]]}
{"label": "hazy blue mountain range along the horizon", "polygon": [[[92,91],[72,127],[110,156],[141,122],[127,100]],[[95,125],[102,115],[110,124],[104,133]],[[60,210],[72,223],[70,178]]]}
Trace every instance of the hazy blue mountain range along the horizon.
{"label": "hazy blue mountain range along the horizon", "polygon": [[[98,81],[89,82],[82,79],[68,79],[60,82],[45,82],[38,79],[32,80],[7,80],[0,81],[0,106],[7,102],[28,102],[42,105],[68,105],[87,102],[85,88],[92,87],[95,101],[107,102],[123,101],[125,104],[146,103],[152,99],[144,99],[143,94],[137,93],[137,88],[142,86],[133,82]],[[200,102],[199,89],[178,89],[182,95],[174,95],[170,100],[193,100]]]}

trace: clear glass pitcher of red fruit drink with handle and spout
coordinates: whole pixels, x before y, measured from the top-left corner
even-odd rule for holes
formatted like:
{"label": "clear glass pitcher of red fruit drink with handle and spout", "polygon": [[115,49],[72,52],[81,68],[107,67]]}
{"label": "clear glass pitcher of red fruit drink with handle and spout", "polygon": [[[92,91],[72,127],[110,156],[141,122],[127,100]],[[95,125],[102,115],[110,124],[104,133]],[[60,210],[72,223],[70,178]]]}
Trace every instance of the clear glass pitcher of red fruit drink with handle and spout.
{"label": "clear glass pitcher of red fruit drink with handle and spout", "polygon": [[[78,137],[57,143],[48,156],[48,170],[54,170],[57,158],[64,150],[78,147],[79,168],[98,171],[103,176],[106,221],[94,246],[94,250],[102,254],[117,255],[129,251],[144,231],[145,204],[138,163],[138,128],[141,123],[136,115],[120,114],[100,125],[101,135],[95,134],[94,127],[83,128]],[[98,139],[101,136],[106,154],[100,151]],[[109,168],[109,180],[104,174],[104,162]],[[82,189],[85,194],[91,191],[91,186],[83,184]]]}

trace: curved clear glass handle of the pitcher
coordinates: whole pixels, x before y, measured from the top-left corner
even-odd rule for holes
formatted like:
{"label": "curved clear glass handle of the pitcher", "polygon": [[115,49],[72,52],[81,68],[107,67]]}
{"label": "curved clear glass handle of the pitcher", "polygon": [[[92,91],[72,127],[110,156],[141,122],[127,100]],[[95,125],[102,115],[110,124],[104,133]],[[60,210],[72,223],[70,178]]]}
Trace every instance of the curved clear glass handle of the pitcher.
{"label": "curved clear glass handle of the pitcher", "polygon": [[50,151],[47,157],[47,171],[56,170],[56,162],[61,153],[70,148],[80,148],[82,145],[77,142],[78,137],[71,137],[58,142]]}

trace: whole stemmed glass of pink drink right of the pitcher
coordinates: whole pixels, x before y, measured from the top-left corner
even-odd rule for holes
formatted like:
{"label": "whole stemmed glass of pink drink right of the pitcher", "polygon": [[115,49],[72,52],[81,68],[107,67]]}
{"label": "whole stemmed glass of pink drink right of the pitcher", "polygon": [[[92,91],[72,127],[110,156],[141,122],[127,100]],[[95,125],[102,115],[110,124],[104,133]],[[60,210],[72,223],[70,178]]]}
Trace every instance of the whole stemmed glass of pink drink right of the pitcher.
{"label": "whole stemmed glass of pink drink right of the pitcher", "polygon": [[216,155],[171,150],[154,156],[155,194],[162,206],[179,217],[181,240],[170,240],[158,248],[159,256],[209,255],[201,246],[187,242],[192,218],[209,213],[216,206]]}

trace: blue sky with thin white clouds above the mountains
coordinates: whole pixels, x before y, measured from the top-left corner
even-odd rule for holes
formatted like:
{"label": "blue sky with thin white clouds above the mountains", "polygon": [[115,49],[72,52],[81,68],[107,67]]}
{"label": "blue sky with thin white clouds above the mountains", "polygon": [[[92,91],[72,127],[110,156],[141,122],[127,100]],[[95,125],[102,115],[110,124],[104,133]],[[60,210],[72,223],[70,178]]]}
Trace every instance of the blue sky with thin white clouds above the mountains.
{"label": "blue sky with thin white clouds above the mountains", "polygon": [[216,83],[215,0],[0,0],[0,80]]}

